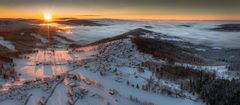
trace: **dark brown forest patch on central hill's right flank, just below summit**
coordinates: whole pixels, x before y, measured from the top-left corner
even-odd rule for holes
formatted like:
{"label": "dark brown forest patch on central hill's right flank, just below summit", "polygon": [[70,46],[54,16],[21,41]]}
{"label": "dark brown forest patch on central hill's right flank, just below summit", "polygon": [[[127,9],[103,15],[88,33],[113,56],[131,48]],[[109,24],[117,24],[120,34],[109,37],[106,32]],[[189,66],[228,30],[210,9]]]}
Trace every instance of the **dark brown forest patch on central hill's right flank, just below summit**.
{"label": "dark brown forest patch on central hill's right flank, just below summit", "polygon": [[190,54],[190,51],[164,40],[142,37],[135,37],[132,40],[137,45],[139,51],[151,54],[156,58],[165,59],[170,64],[175,62],[191,64],[204,62],[203,59]]}

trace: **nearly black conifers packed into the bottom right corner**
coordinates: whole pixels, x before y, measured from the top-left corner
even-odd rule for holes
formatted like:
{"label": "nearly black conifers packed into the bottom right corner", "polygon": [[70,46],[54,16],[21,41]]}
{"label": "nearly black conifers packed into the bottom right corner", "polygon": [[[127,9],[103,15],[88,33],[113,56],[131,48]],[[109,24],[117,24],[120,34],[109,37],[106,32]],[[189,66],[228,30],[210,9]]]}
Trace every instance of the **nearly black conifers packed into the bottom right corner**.
{"label": "nearly black conifers packed into the bottom right corner", "polygon": [[240,104],[240,80],[194,80],[189,82],[189,86],[207,105]]}

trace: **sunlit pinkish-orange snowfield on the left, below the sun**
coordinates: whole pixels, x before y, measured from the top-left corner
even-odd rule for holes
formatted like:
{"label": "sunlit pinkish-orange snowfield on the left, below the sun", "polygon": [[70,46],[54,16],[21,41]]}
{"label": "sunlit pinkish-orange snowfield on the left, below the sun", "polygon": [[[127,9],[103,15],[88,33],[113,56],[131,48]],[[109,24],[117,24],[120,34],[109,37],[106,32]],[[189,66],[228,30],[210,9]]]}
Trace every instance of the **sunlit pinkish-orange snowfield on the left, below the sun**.
{"label": "sunlit pinkish-orange snowfield on the left, below the sun", "polygon": [[[93,53],[93,52],[92,52]],[[91,55],[91,53],[90,53]],[[90,56],[89,54],[71,54],[68,50],[37,50],[36,53],[26,55],[27,59],[15,59],[15,69],[22,78],[35,78],[59,75],[69,71],[71,63]]]}

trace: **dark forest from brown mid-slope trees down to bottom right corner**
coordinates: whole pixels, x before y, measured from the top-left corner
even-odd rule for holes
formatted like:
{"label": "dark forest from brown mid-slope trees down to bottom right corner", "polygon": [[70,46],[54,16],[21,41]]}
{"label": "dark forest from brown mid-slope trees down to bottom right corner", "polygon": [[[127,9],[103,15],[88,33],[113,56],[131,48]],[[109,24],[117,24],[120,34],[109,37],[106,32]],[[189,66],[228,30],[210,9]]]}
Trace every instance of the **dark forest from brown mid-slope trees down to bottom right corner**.
{"label": "dark forest from brown mid-slope trees down to bottom right corner", "polygon": [[217,79],[215,73],[190,67],[162,65],[157,77],[181,80],[181,88],[197,94],[207,105],[239,105],[240,80]]}

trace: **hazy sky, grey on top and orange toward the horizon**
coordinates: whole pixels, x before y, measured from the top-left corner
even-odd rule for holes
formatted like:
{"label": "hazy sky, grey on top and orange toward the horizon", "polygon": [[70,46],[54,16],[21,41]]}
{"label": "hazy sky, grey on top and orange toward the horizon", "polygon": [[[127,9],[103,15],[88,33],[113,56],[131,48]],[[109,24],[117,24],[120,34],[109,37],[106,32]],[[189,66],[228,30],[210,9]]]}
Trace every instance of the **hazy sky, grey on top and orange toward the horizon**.
{"label": "hazy sky, grey on top and orange toward the horizon", "polygon": [[0,17],[240,20],[240,0],[0,0]]}

